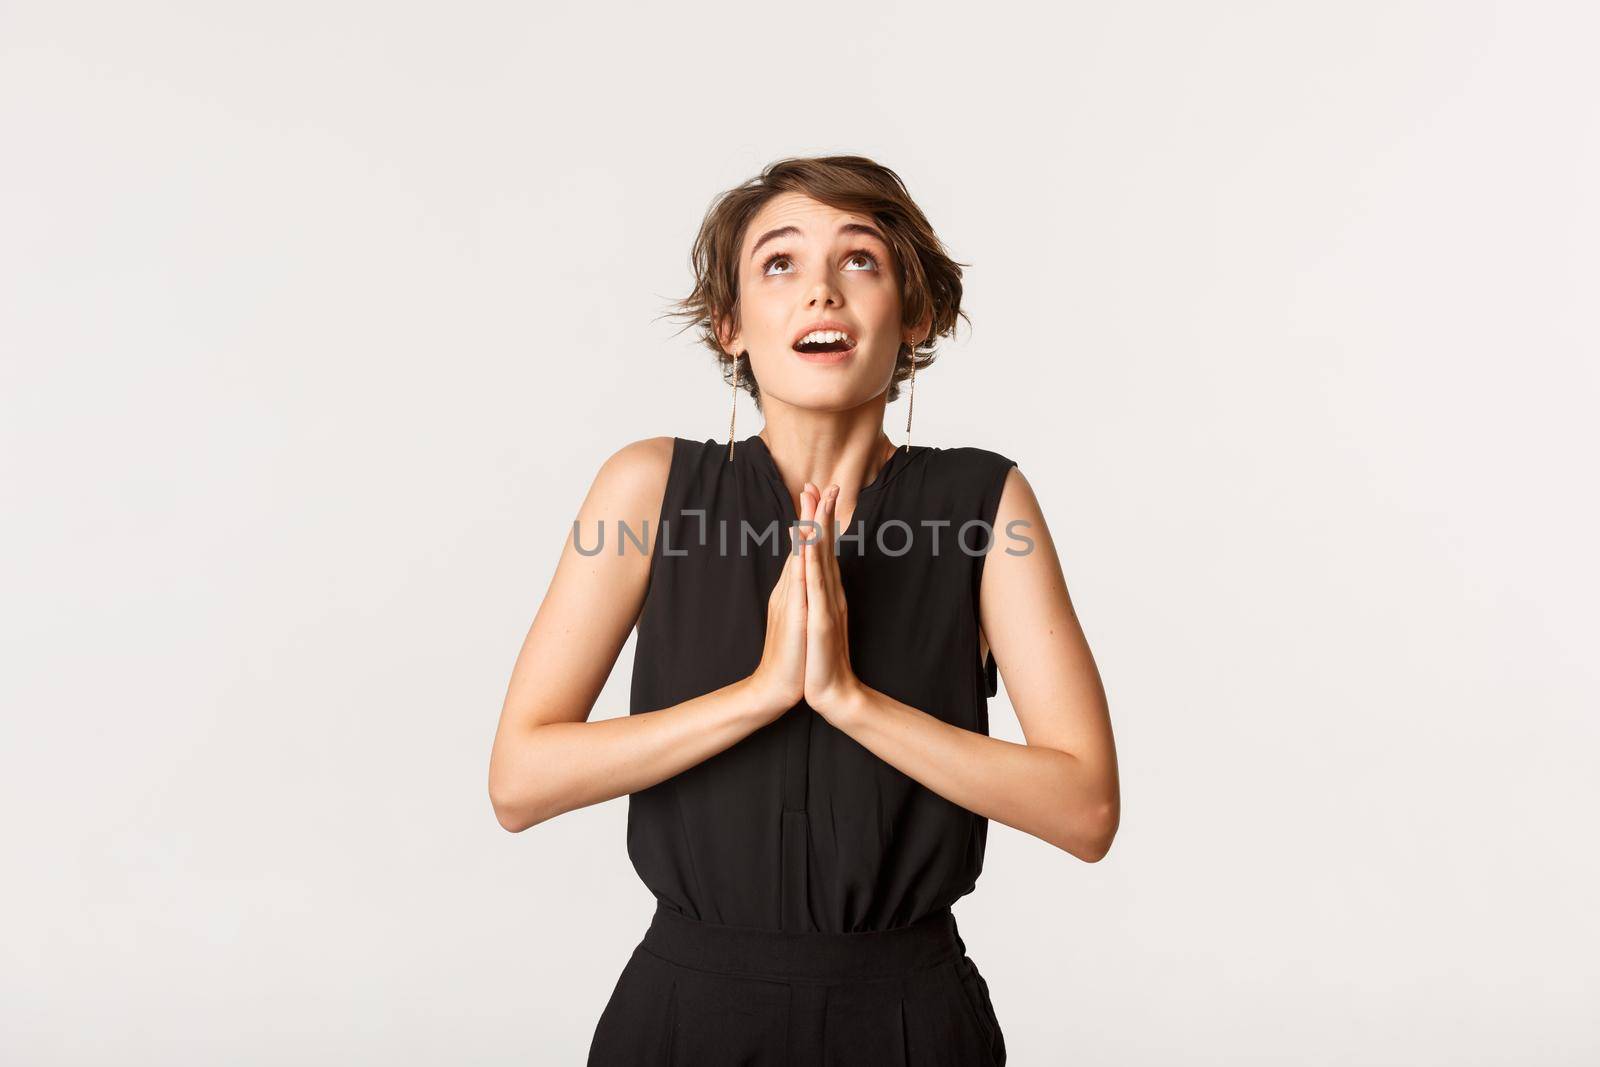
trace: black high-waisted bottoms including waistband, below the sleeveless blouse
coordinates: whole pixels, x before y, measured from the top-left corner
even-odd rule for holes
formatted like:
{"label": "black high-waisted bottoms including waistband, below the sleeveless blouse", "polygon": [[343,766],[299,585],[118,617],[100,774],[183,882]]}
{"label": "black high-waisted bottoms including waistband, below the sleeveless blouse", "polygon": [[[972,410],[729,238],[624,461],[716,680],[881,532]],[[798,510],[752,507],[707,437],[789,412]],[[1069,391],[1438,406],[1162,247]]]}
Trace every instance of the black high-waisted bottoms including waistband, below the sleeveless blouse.
{"label": "black high-waisted bottoms including waistband, below the sleeveless blouse", "polygon": [[989,984],[950,909],[910,926],[723,926],[662,904],[589,1067],[1003,1067]]}

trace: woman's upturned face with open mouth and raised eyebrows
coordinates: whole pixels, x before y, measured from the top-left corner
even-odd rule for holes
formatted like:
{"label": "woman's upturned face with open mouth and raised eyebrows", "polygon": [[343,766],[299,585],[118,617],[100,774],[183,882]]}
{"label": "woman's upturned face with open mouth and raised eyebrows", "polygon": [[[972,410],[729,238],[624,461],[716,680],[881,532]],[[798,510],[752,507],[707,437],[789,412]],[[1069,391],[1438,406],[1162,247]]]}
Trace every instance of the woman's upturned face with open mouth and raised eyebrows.
{"label": "woman's upturned face with open mouth and raised eyebrows", "polygon": [[773,197],[750,221],[739,306],[725,349],[750,354],[763,403],[859,406],[888,389],[901,344],[920,338],[901,323],[898,264],[877,222],[802,194]]}

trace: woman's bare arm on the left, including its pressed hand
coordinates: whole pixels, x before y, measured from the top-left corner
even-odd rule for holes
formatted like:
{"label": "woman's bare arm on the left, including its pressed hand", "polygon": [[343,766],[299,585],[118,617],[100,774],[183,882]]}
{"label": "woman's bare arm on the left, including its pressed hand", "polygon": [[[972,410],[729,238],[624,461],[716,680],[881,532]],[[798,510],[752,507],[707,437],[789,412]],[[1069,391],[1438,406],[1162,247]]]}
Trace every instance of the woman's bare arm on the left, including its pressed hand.
{"label": "woman's bare arm on the left, including its pressed hand", "polygon": [[[507,830],[654,785],[800,701],[794,667],[784,661],[794,646],[803,656],[805,616],[786,609],[784,598],[797,574],[802,593],[805,589],[795,563],[784,568],[773,590],[766,649],[750,677],[672,707],[587,721],[643,606],[670,462],[670,437],[619,450],[600,467],[578,514],[584,547],[595,545],[603,525],[605,550],[578,552],[568,531],[512,669],[490,753],[490,800]],[[646,528],[643,520],[646,550],[624,541],[618,553],[619,522],[638,533]]]}

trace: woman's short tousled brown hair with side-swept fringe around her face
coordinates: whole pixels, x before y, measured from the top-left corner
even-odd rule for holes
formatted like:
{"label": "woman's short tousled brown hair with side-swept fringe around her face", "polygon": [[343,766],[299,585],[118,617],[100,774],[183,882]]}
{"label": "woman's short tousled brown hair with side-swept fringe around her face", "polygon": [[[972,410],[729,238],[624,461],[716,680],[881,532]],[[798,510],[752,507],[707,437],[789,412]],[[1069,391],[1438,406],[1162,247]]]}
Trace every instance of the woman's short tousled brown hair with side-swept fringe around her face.
{"label": "woman's short tousled brown hair with side-swept fringe around her face", "polygon": [[[718,194],[701,222],[690,264],[694,288],[669,312],[686,318],[678,333],[699,326],[701,342],[715,355],[722,379],[733,382],[734,357],[717,339],[720,322],[739,318],[739,246],[750,219],[773,197],[798,192],[840,211],[870,216],[890,242],[901,264],[901,318],[906,325],[922,320],[930,309],[933,325],[928,336],[914,346],[901,346],[890,378],[888,400],[899,398],[899,384],[910,374],[912,360],[922,370],[934,360],[928,349],[938,338],[955,334],[955,320],[968,318],[962,310],[962,264],[946,253],[922,208],[910,198],[906,182],[890,168],[862,155],[789,157],[770,163],[760,174],[734,189]],[[746,355],[738,360],[739,386],[762,406],[760,386],[750,373]]]}

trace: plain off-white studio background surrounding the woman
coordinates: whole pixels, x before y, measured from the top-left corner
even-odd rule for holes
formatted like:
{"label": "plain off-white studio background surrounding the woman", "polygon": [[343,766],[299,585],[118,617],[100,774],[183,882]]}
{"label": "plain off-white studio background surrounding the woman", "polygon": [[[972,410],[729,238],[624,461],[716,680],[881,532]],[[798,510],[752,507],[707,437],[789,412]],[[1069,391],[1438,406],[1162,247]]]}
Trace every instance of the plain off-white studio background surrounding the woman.
{"label": "plain off-white studio background surrounding the woman", "polygon": [[1117,729],[1106,861],[957,904],[1011,1064],[1594,1062],[1597,29],[6,3],[0,1059],[582,1061],[653,901],[626,800],[496,824],[512,659],[600,462],[726,435],[712,195],[859,152]]}

